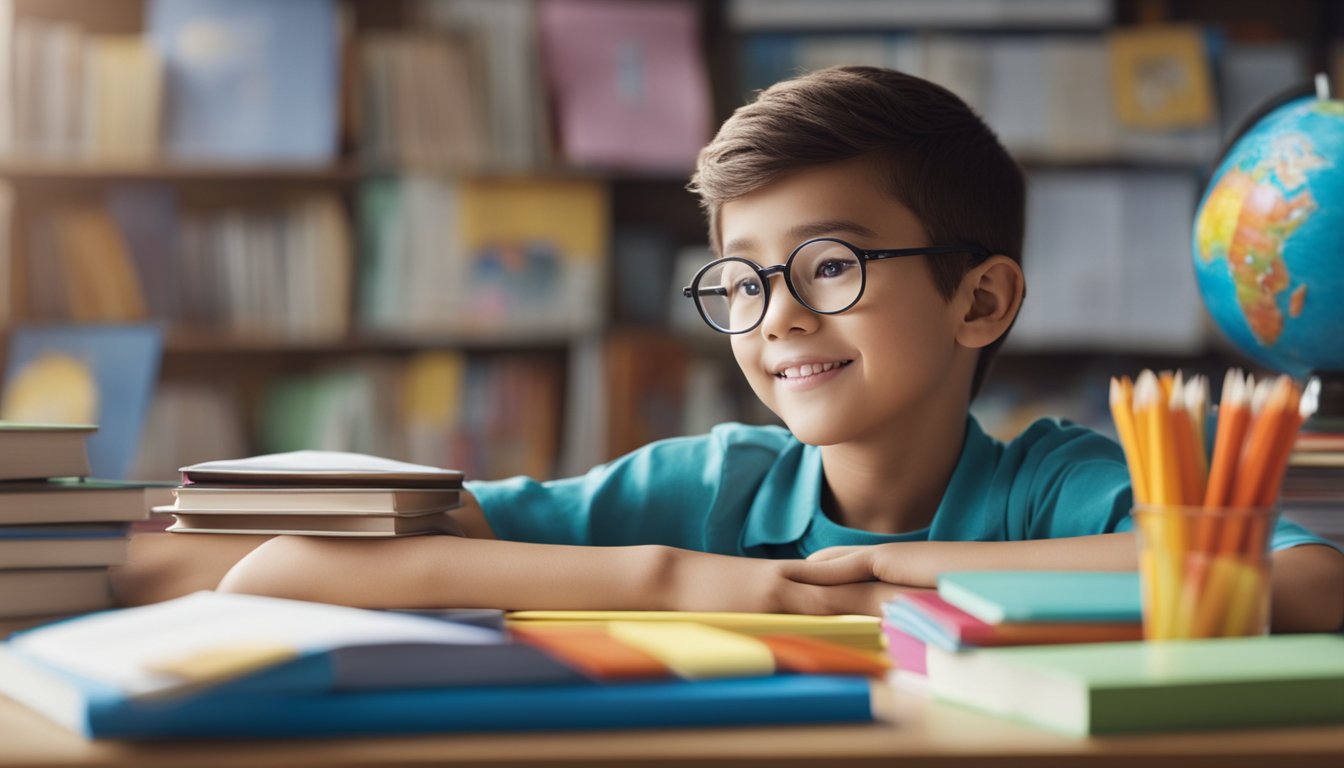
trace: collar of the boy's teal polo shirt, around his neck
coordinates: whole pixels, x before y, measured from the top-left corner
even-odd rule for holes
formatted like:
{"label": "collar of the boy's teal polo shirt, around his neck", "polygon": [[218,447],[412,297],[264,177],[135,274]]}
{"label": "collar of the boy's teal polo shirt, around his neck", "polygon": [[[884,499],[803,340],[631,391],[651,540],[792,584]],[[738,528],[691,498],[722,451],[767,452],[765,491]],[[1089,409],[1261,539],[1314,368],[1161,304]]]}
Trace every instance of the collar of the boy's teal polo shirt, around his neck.
{"label": "collar of the boy's teal polo shirt, around his neck", "polygon": [[[961,456],[948,482],[938,511],[938,518],[953,514],[948,510],[978,504],[982,502],[985,482],[981,472],[993,464],[995,440],[985,434],[973,416],[966,417],[966,432],[961,445]],[[798,543],[814,518],[824,516],[821,511],[821,449],[793,440],[780,452],[778,460],[766,473],[761,490],[747,511],[742,531],[742,549],[751,554],[753,547],[767,545]],[[836,529],[864,534],[857,529]],[[871,535],[871,534],[870,534]],[[896,538],[909,534],[896,534]],[[862,538],[862,537],[856,537]],[[862,543],[835,542],[835,543]]]}

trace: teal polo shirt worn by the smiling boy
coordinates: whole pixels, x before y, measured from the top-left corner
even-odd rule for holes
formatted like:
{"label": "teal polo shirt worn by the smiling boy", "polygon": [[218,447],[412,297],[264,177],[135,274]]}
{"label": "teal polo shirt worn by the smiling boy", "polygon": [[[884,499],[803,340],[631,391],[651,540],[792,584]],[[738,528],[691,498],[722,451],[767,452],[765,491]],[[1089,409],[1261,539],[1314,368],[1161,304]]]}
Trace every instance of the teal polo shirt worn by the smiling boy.
{"label": "teal polo shirt worn by the smiling boy", "polygon": [[[806,557],[828,546],[903,541],[1020,541],[1129,530],[1120,447],[1083,426],[1040,420],[1009,443],[968,417],[933,522],[879,534],[821,510],[821,449],[780,426],[723,424],[661,440],[586,475],[469,482],[495,535],[563,545],[659,543],[718,554]],[[1281,522],[1274,547],[1324,543]]]}

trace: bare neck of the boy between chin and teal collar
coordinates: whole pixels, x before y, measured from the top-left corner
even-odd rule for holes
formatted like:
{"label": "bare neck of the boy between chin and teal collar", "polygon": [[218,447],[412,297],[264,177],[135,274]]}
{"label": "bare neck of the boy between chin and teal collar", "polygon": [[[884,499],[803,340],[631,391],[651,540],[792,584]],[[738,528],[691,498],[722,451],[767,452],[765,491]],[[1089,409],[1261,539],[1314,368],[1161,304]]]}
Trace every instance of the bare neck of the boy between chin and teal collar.
{"label": "bare neck of the boy between chin and teal collar", "polygon": [[823,447],[827,515],[883,534],[927,527],[961,457],[966,418],[964,406],[958,414],[926,413],[880,441]]}

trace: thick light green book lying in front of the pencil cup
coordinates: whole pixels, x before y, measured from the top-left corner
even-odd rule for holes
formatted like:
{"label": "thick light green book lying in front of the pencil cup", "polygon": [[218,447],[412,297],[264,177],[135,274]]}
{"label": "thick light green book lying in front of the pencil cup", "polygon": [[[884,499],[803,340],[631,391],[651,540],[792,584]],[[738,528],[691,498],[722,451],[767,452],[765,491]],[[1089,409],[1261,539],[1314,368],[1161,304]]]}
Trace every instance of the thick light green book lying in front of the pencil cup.
{"label": "thick light green book lying in front of the pencil cup", "polygon": [[929,647],[941,699],[1083,736],[1344,722],[1344,636]]}

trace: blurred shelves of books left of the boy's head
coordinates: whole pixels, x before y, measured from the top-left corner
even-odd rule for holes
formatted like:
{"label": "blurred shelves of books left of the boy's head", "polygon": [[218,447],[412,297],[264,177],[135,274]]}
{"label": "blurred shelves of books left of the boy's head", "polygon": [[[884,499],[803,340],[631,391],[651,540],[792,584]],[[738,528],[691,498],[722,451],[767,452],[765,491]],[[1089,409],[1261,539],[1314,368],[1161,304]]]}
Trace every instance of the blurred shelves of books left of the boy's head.
{"label": "blurred shelves of books left of the boy's head", "polygon": [[[711,125],[700,4],[95,5],[0,0],[0,347],[156,331],[132,475],[292,448],[469,477],[609,456],[597,425],[638,398],[581,369],[607,370],[617,247],[703,239],[681,190]],[[589,87],[616,79],[594,44],[648,67]],[[9,386],[40,367],[9,358]]]}

